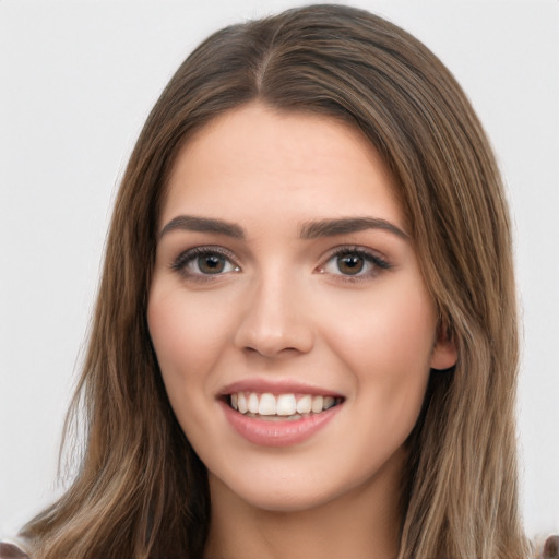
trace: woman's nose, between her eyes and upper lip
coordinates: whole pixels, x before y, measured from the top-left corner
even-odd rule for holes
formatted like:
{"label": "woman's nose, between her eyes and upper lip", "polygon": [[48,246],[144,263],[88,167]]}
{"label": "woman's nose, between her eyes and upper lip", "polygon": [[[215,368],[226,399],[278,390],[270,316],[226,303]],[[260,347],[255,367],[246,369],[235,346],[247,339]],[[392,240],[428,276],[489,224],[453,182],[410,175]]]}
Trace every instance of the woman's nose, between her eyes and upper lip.
{"label": "woman's nose, between her eyes and upper lip", "polygon": [[265,358],[309,353],[312,316],[293,278],[261,280],[248,294],[235,345]]}

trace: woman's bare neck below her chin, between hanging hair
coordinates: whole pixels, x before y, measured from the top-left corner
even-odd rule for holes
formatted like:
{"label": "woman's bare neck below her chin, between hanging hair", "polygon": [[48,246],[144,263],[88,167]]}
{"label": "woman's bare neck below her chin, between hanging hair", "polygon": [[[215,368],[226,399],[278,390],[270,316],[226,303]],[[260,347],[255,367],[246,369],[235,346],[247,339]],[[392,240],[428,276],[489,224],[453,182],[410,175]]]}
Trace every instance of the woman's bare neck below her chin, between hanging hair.
{"label": "woman's bare neck below her chin, between hanging hair", "polygon": [[400,475],[396,478],[394,471],[378,473],[367,484],[306,510],[259,509],[212,474],[210,490],[206,559],[394,559],[397,555]]}

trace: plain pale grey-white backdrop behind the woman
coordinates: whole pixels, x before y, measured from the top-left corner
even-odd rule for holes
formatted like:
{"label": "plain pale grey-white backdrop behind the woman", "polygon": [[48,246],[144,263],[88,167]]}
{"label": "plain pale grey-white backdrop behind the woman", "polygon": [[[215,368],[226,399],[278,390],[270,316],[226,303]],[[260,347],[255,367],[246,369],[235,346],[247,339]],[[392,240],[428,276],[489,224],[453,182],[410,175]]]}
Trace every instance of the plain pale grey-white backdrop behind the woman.
{"label": "plain pale grey-white backdrop behind the woman", "polygon": [[[352,3],[426,43],[495,146],[515,224],[524,324],[524,518],[530,535],[557,532],[559,2]],[[0,0],[0,534],[61,490],[60,433],[111,202],[148,110],[212,31],[300,4]]]}

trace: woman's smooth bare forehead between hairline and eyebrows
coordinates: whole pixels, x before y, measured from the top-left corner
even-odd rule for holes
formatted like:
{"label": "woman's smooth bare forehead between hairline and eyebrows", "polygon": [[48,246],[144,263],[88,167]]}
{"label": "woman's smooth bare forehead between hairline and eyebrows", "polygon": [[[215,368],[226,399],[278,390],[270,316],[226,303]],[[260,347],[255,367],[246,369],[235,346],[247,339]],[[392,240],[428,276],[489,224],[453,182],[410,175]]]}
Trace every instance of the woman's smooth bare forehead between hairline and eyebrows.
{"label": "woman's smooth bare forehead between hairline and eyebrows", "polygon": [[405,225],[395,181],[362,132],[332,117],[255,103],[217,117],[186,143],[160,217],[243,219],[280,211],[299,221],[372,212]]}

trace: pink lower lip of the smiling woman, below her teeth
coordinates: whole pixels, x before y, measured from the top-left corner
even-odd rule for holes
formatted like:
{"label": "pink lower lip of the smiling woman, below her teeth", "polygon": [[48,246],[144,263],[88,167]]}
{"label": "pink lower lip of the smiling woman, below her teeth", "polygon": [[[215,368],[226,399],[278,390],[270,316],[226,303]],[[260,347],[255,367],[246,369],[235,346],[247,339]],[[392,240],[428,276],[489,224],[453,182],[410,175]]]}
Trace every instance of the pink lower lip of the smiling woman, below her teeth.
{"label": "pink lower lip of the smiling woman, below her teeth", "polygon": [[295,420],[266,421],[248,417],[233,409],[226,402],[221,402],[225,417],[233,428],[245,439],[262,447],[289,447],[310,439],[323,429],[337,414],[342,404],[337,404],[320,414],[312,414]]}

